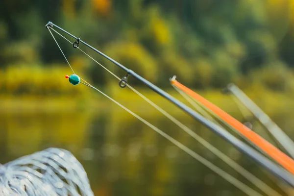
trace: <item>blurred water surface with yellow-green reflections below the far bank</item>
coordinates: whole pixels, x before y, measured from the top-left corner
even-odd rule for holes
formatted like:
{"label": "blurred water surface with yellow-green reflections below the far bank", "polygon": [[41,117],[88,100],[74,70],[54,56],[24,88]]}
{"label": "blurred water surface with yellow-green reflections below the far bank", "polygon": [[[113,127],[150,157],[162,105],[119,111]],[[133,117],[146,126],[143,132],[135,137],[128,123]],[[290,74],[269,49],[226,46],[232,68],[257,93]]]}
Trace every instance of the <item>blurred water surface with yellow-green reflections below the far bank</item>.
{"label": "blurred water surface with yellow-green reflections below the far bank", "polygon": [[[149,122],[253,187],[164,117]],[[218,136],[185,116],[179,120],[258,175],[274,181]],[[185,152],[122,110],[0,114],[0,162],[47,147],[70,150],[83,164],[98,196],[243,195]],[[273,178],[274,179],[274,178]],[[258,189],[255,189],[259,191]]]}

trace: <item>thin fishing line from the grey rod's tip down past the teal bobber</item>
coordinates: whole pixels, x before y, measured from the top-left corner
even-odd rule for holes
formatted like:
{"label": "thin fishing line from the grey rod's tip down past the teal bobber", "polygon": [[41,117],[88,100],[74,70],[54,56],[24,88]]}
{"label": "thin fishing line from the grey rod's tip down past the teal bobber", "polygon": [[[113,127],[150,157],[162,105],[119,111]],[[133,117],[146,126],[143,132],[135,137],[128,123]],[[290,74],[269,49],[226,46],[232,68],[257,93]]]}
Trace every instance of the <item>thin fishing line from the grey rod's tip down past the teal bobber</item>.
{"label": "thin fishing line from the grey rod's tip down past the teal bobber", "polygon": [[[50,28],[50,27],[49,27]],[[48,29],[49,29],[48,28]],[[51,28],[52,29],[52,28]],[[50,31],[50,29],[49,29]],[[51,32],[51,31],[50,31]],[[53,34],[51,33],[51,35],[53,36]],[[54,36],[53,36],[54,37]],[[54,39],[55,40],[55,39]],[[55,42],[57,42],[55,40]],[[59,49],[61,50],[61,48],[59,47]],[[66,57],[65,57],[66,58]],[[68,62],[68,61],[67,61]],[[106,68],[105,68],[106,69]],[[82,79],[82,78],[81,78]],[[83,81],[85,81],[84,79],[82,79]],[[145,119],[141,118],[139,115],[135,114],[134,112],[132,112],[131,110],[129,110],[128,108],[124,107],[121,103],[119,103],[118,101],[116,101],[115,99],[109,97],[108,95],[106,95],[105,93],[103,93],[102,91],[98,90],[97,88],[95,88],[94,86],[92,86],[90,83],[88,83],[87,81],[85,81],[86,84],[88,84],[91,88],[95,89],[96,91],[98,91],[100,94],[102,94],[104,97],[110,99],[111,101],[113,101],[114,103],[116,103],[118,106],[120,106],[121,108],[123,108],[125,111],[127,111],[129,114],[131,114],[132,116],[134,116],[135,118],[137,118],[138,120],[140,120],[142,123],[145,123],[147,126],[149,126],[151,129],[153,129],[154,131],[156,131],[157,133],[159,133],[160,135],[162,135],[164,138],[166,138],[167,140],[169,140],[170,142],[172,142],[174,145],[176,145],[177,147],[181,148],[182,150],[184,150],[186,153],[188,153],[189,155],[191,155],[193,158],[195,158],[196,160],[198,160],[200,163],[202,163],[203,165],[205,165],[206,167],[208,167],[209,169],[211,169],[212,171],[216,172],[217,174],[219,174],[221,177],[223,177],[224,179],[226,179],[228,182],[230,182],[231,184],[233,184],[234,186],[236,186],[237,188],[239,188],[241,191],[243,191],[245,194],[249,195],[249,196],[261,196],[259,193],[257,193],[256,191],[254,191],[253,189],[251,189],[250,187],[248,187],[247,185],[245,185],[243,182],[239,181],[238,179],[236,179],[235,177],[233,177],[232,175],[228,174],[227,172],[221,170],[219,167],[215,166],[213,163],[211,163],[210,161],[206,160],[205,158],[201,157],[200,155],[198,155],[196,152],[194,152],[193,150],[191,150],[190,148],[184,146],[182,143],[178,142],[177,140],[175,140],[174,138],[172,138],[171,136],[169,136],[168,134],[166,134],[165,132],[163,132],[162,130],[160,130],[159,128],[157,128],[156,126],[154,126],[153,124],[147,122]],[[129,86],[129,85],[128,85]],[[139,93],[139,92],[138,92]],[[142,94],[141,94],[142,95]]]}

